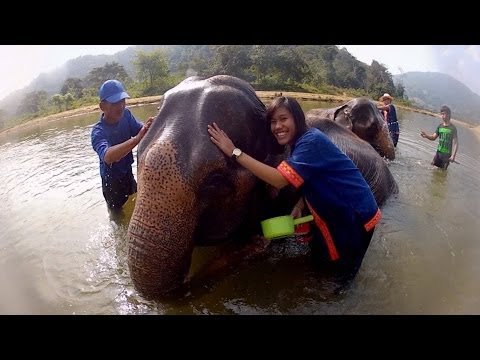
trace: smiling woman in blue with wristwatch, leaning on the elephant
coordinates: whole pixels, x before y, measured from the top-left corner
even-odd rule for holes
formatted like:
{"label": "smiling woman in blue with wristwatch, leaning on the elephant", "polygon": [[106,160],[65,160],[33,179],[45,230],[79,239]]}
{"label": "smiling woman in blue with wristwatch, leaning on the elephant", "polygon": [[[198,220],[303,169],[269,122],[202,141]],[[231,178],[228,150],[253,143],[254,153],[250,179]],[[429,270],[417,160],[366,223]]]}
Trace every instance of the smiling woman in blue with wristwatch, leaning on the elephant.
{"label": "smiling woman in blue with wristwatch, leaning on the elephant", "polygon": [[301,198],[294,218],[308,211],[314,217],[312,258],[328,273],[353,278],[362,263],[381,212],[372,191],[352,160],[322,131],[308,128],[299,103],[277,97],[267,106],[267,122],[290,156],[268,166],[236,148],[216,123],[208,125],[211,141],[263,181],[281,189],[289,184]]}

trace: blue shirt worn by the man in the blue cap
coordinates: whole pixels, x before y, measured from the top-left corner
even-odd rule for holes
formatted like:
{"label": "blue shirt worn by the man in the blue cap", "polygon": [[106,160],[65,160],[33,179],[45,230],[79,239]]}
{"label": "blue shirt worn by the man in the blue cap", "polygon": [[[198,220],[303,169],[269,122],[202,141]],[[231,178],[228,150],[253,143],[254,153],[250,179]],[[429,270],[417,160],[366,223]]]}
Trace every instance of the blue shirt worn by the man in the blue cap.
{"label": "blue shirt worn by the man in the blue cap", "polygon": [[132,171],[133,153],[131,151],[110,166],[105,163],[105,153],[110,146],[121,144],[136,136],[142,126],[143,124],[135,119],[128,109],[123,111],[123,116],[117,124],[107,124],[104,114],[102,114],[99,121],[93,126],[92,147],[100,159],[100,176],[103,179],[123,177]]}

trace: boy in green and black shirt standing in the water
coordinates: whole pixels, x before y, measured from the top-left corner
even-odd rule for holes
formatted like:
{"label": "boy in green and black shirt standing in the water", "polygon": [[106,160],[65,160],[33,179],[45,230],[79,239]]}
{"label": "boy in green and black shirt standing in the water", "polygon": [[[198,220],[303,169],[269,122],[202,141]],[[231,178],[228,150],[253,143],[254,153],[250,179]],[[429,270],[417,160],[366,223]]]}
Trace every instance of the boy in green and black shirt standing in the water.
{"label": "boy in green and black shirt standing in the water", "polygon": [[440,116],[443,122],[437,126],[435,132],[428,135],[425,131],[420,131],[420,136],[428,140],[435,140],[440,137],[437,152],[432,160],[432,165],[446,170],[450,162],[455,161],[458,150],[457,128],[450,122],[452,112],[447,105],[440,108]]}

